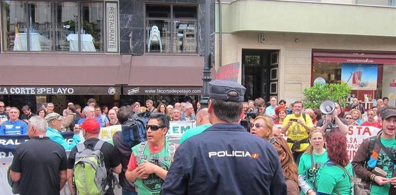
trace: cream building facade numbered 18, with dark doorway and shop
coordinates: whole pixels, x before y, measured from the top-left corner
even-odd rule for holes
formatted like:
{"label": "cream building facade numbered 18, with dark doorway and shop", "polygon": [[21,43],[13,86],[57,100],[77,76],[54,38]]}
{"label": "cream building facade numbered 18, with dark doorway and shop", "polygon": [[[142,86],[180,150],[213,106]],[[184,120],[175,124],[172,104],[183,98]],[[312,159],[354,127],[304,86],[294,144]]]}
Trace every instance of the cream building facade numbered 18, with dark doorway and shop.
{"label": "cream building facade numbered 18, with dark doorway and shop", "polygon": [[222,1],[221,18],[216,4],[216,67],[220,58],[221,65],[241,64],[246,99],[292,103],[316,80],[348,83],[367,108],[384,96],[394,105],[394,6],[388,0]]}

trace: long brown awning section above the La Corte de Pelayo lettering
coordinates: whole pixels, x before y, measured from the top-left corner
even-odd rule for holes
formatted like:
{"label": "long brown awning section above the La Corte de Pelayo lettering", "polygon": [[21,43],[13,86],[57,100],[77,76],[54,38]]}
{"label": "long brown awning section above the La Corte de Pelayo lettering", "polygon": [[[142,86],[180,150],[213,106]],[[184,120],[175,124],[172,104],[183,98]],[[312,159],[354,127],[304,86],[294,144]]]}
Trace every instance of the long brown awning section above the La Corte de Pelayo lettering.
{"label": "long brown awning section above the La Corte de Pelayo lettering", "polygon": [[120,66],[129,59],[113,54],[3,53],[0,84],[45,86],[113,86],[119,81]]}

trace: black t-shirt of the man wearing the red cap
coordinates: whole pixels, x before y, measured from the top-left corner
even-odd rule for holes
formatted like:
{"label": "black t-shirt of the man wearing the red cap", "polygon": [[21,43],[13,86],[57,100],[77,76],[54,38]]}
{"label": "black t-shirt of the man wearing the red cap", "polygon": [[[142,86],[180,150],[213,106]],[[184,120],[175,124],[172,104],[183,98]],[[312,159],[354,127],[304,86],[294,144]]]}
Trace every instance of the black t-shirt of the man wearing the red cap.
{"label": "black t-shirt of the man wearing the red cap", "polygon": [[[93,149],[95,144],[99,141],[99,139],[89,139],[85,140],[84,145],[87,148]],[[105,142],[100,149],[100,151],[103,153],[103,160],[104,160],[104,166],[106,169],[114,168],[117,167],[120,164],[120,158],[119,158],[119,153],[117,149]],[[77,153],[77,146],[75,146],[73,149],[71,149],[69,158],[67,160],[67,168],[68,169],[73,169],[74,168],[74,163],[75,163],[75,158],[76,158],[76,153]],[[113,173],[112,173],[113,174]],[[107,190],[106,194],[114,194],[113,188],[111,190]]]}

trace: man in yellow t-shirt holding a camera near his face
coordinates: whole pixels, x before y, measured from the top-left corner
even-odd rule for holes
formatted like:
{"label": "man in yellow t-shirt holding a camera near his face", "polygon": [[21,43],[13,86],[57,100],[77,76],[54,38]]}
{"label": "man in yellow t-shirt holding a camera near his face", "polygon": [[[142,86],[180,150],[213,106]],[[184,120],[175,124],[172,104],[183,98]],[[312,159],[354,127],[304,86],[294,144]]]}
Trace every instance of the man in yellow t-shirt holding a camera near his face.
{"label": "man in yellow t-shirt holding a camera near his face", "polygon": [[314,128],[311,117],[302,111],[301,101],[293,103],[292,114],[287,115],[282,124],[282,133],[287,131],[287,143],[292,149],[293,159],[299,163],[302,153],[310,146],[308,135]]}

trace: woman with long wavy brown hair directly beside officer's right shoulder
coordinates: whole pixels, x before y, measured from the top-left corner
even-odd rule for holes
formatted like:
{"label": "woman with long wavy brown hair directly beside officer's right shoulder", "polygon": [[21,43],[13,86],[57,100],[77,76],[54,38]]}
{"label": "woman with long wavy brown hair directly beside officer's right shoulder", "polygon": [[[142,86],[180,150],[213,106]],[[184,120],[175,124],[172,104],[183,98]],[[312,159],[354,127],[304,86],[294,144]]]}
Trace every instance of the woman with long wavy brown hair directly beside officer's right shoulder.
{"label": "woman with long wavy brown hair directly beside officer's right shoulder", "polygon": [[298,195],[297,165],[293,162],[293,155],[283,138],[275,138],[272,146],[278,152],[280,164],[287,186],[287,195]]}

